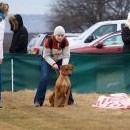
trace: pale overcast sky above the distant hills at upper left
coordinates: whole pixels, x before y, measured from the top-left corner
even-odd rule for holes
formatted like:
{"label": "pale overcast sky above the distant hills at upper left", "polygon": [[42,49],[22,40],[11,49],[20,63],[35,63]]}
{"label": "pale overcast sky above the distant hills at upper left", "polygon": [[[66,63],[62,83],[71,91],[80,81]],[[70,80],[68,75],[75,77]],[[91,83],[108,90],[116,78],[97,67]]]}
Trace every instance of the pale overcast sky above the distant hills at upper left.
{"label": "pale overcast sky above the distant hills at upper left", "polygon": [[9,13],[14,13],[14,14],[48,13],[50,9],[51,1],[53,0],[2,0],[2,2],[6,2],[9,4],[10,6]]}

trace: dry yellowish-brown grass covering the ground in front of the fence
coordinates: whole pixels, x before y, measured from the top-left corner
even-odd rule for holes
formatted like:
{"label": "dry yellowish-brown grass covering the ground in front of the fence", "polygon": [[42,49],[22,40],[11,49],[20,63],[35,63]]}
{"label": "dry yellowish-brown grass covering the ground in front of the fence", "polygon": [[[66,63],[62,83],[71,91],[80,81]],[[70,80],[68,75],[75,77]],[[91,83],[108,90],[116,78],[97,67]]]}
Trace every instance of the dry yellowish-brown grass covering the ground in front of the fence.
{"label": "dry yellowish-brown grass covering the ground in front of the fence", "polygon": [[93,108],[99,94],[74,93],[76,104],[50,107],[47,91],[43,107],[33,106],[35,91],[3,92],[0,130],[129,130],[130,110]]}

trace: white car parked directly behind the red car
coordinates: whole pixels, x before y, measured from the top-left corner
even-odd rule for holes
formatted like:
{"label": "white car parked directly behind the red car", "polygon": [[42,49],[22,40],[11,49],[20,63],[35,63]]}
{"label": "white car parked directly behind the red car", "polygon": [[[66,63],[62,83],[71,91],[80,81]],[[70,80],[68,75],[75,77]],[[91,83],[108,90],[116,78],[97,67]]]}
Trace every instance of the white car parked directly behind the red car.
{"label": "white car parked directly behind the red car", "polygon": [[88,28],[79,37],[69,39],[70,48],[79,48],[86,46],[86,44],[91,43],[93,40],[107,33],[119,31],[122,29],[125,22],[126,20],[111,20],[98,22]]}

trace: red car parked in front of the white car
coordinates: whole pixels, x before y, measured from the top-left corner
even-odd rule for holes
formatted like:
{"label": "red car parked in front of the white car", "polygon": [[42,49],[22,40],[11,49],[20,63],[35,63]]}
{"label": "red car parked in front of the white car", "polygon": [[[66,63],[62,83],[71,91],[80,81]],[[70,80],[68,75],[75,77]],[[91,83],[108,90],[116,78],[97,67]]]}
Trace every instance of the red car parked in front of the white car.
{"label": "red car parked in front of the white car", "polygon": [[71,52],[78,53],[121,53],[123,41],[121,31],[106,34],[84,47],[71,49]]}

